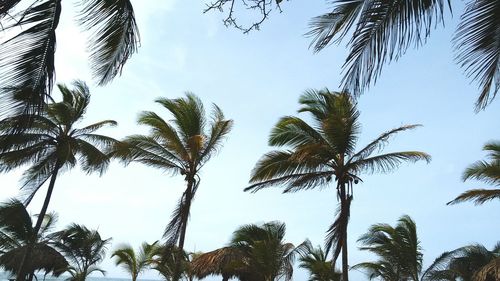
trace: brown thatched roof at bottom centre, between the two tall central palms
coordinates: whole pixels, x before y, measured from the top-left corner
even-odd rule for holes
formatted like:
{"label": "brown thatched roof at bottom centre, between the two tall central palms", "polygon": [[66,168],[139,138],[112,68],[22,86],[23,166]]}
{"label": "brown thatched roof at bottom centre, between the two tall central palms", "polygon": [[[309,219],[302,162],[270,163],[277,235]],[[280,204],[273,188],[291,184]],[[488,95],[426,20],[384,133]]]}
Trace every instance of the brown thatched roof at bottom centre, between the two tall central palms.
{"label": "brown thatched roof at bottom centre, between the two tall central palms", "polygon": [[198,278],[208,275],[239,276],[244,262],[241,252],[235,248],[224,247],[202,254],[191,262],[191,270]]}

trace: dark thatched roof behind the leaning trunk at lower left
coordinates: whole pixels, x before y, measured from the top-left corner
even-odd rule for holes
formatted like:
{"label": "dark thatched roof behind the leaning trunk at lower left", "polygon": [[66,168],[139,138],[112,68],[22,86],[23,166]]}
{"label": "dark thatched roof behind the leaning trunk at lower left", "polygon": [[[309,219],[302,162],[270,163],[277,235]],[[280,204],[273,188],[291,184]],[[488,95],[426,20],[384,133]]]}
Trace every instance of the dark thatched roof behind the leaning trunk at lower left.
{"label": "dark thatched roof behind the leaning trunk at lower left", "polygon": [[[27,246],[23,246],[2,254],[0,256],[0,267],[16,273],[26,249]],[[42,270],[45,273],[52,273],[54,276],[59,276],[68,268],[68,262],[54,248],[37,243],[33,248],[31,258],[27,260],[25,266],[27,272]]]}

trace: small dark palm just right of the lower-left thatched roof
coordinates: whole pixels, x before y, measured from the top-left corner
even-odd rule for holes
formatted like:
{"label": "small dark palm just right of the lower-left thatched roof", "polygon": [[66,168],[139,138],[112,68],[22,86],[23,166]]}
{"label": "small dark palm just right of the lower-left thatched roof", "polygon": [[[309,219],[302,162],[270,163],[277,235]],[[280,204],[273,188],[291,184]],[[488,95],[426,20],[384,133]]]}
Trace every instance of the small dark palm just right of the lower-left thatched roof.
{"label": "small dark palm just right of the lower-left thatched roof", "polygon": [[96,271],[105,273],[97,264],[104,260],[111,238],[103,240],[97,230],[89,230],[78,224],[72,224],[51,237],[54,246],[71,262],[68,268],[70,281],[85,281]]}

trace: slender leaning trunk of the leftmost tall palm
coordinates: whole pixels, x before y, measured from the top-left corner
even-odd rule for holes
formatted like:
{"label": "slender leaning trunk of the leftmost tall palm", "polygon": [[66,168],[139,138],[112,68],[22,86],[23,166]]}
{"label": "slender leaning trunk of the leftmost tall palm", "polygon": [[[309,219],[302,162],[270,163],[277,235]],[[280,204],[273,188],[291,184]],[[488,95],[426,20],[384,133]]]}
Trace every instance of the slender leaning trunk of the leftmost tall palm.
{"label": "slender leaning trunk of the leftmost tall palm", "polygon": [[[56,183],[57,173],[59,172],[59,163],[56,163],[54,167],[54,171],[52,172],[52,176],[50,177],[49,188],[47,189],[47,194],[45,195],[45,200],[43,201],[42,210],[40,210],[40,214],[38,214],[38,218],[36,220],[35,227],[33,228],[33,240],[26,247],[26,252],[24,252],[23,259],[21,260],[21,264],[19,265],[19,269],[17,271],[16,281],[24,281],[26,280],[26,261],[30,259],[31,252],[33,251],[34,243],[38,237],[38,232],[42,226],[43,219],[45,214],[47,214],[47,208],[49,207],[50,198],[52,197],[52,191],[54,190],[54,185]],[[30,278],[30,280],[32,277]]]}

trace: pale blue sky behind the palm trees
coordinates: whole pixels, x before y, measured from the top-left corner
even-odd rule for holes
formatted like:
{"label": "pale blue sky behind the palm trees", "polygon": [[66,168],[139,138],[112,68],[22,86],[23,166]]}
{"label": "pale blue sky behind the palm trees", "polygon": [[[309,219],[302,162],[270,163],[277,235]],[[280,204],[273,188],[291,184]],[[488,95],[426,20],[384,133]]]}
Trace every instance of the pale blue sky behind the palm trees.
{"label": "pale blue sky behind the palm trees", "polygon": [[[105,130],[111,136],[146,133],[136,125],[138,112],[153,110],[168,119],[166,110],[153,100],[181,97],[185,91],[200,96],[207,107],[216,103],[235,122],[224,147],[201,173],[186,250],[211,251],[224,246],[238,226],[272,220],[286,223],[289,242],[299,244],[309,238],[315,245],[323,244],[337,207],[333,188],[287,195],[278,188],[257,194],[244,193],[243,188],[256,161],[271,149],[267,145],[271,127],[280,117],[296,114],[302,92],[338,89],[345,43],[313,54],[308,49],[310,39],[303,36],[309,19],[327,11],[325,2],[284,2],[283,13],[272,14],[260,31],[244,35],[225,28],[223,15],[203,14],[204,1],[133,1],[142,46],[123,75],[101,88],[90,77],[85,35],[74,24],[70,2],[63,3],[57,81],[83,79],[91,86],[92,100],[82,125],[114,119],[119,126]],[[498,202],[479,207],[445,205],[467,189],[488,187],[460,178],[465,167],[484,159],[483,144],[499,139],[498,128],[492,125],[499,120],[500,101],[474,113],[478,89],[453,63],[450,39],[460,13],[455,10],[446,28],[433,31],[424,47],[385,67],[377,84],[359,99],[360,147],[394,127],[423,124],[392,139],[386,151],[420,150],[433,159],[430,164],[405,164],[391,174],[362,177],[351,206],[350,265],[373,258],[358,251],[356,243],[370,225],[394,225],[403,214],[417,223],[425,267],[444,251],[470,243],[492,248],[498,241]],[[0,175],[0,198],[18,194],[21,172]],[[161,238],[183,190],[180,176],[114,162],[102,177],[78,169],[64,173],[49,210],[59,214],[60,228],[76,222],[113,237],[110,250],[124,242],[137,247]],[[39,212],[44,193],[45,189],[39,191],[29,206],[33,214]],[[127,276],[109,258],[102,267],[108,276]],[[358,272],[351,276],[355,281],[365,279]],[[147,272],[143,277],[157,275]],[[294,276],[306,278],[302,271]]]}

